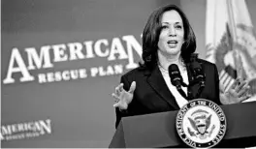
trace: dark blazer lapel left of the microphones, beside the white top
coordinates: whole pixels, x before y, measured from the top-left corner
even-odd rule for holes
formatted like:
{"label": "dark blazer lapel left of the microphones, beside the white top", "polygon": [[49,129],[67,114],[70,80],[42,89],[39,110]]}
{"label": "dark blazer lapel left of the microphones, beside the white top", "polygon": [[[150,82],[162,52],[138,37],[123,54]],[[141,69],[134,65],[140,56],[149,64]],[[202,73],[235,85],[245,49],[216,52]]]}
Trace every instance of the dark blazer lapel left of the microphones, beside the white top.
{"label": "dark blazer lapel left of the microphones, beside the white top", "polygon": [[179,109],[178,105],[176,104],[175,97],[169,90],[165,79],[157,66],[151,72],[151,75],[148,75],[147,82],[163,100],[175,107],[175,109]]}

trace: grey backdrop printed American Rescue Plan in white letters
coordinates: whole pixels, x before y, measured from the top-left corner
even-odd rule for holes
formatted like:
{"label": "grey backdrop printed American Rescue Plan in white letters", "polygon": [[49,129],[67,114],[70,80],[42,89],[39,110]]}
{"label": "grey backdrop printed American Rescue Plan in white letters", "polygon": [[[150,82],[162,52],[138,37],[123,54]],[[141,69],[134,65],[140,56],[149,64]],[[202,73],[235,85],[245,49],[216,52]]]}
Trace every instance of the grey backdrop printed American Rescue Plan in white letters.
{"label": "grey backdrop printed American Rescue Plan in white letters", "polygon": [[108,147],[112,92],[156,8],[179,0],[2,0],[2,147]]}

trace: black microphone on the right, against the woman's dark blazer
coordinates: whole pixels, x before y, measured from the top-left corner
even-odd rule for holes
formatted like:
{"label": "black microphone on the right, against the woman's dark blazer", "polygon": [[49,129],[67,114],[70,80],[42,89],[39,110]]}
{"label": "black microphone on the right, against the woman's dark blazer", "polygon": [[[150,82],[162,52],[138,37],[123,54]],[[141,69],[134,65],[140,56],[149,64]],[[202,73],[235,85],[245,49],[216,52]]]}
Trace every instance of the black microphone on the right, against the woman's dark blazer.
{"label": "black microphone on the right, against the woman's dark blazer", "polygon": [[206,86],[206,76],[203,73],[202,67],[199,62],[194,61],[190,66],[192,75],[194,77],[192,84],[199,82],[199,89],[196,95],[196,98],[199,98],[200,94]]}

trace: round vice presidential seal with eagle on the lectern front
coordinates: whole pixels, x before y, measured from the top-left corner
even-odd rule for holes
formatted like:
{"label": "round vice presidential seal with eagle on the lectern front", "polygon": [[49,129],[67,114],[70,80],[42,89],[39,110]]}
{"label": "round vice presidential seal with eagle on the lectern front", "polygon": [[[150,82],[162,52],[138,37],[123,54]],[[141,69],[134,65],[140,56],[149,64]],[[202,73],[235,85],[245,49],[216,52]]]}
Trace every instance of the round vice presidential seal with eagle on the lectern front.
{"label": "round vice presidential seal with eagle on the lectern front", "polygon": [[205,99],[185,104],[176,115],[176,131],[187,145],[213,147],[226,133],[226,117],[221,107]]}

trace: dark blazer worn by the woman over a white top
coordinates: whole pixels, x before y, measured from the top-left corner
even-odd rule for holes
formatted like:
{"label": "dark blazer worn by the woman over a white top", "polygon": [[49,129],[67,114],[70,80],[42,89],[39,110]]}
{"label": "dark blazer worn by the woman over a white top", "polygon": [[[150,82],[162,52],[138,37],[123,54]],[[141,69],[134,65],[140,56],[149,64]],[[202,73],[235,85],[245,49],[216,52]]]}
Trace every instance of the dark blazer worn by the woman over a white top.
{"label": "dark blazer worn by the woman over a white top", "polygon": [[[219,78],[216,66],[202,59],[198,59],[198,62],[202,64],[202,70],[206,75],[206,87],[199,98],[220,104]],[[192,75],[189,71],[188,65],[187,72],[189,82],[191,82]],[[118,108],[115,109],[115,128],[117,128],[121,118],[124,116],[142,115],[179,109],[176,104],[176,99],[169,90],[157,65],[155,65],[152,71],[139,67],[121,76],[121,82],[124,84],[123,87],[126,91],[129,90],[132,81],[136,81],[134,98],[128,105],[127,110],[119,111]],[[188,94],[190,93],[195,96],[198,92],[198,88],[199,84],[195,84],[188,88]]]}

